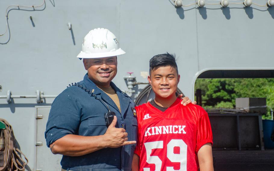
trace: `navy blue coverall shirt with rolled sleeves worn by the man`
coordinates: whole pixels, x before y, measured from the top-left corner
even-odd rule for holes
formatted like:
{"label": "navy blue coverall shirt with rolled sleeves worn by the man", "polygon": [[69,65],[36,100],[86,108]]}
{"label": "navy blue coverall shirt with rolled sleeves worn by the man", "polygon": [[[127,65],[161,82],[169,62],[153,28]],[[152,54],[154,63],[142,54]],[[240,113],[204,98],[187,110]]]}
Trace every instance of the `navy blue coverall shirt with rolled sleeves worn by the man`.
{"label": "navy blue coverall shirt with rolled sleeves worn by the man", "polygon": [[[135,107],[132,99],[121,92],[111,82],[111,87],[118,95],[121,113],[114,101],[99,89],[86,74],[83,81],[65,89],[58,95],[52,105],[45,131],[47,146],[68,134],[82,136],[103,135],[107,126],[104,114],[107,107],[97,98],[103,100],[117,116],[116,127],[125,128],[128,141],[137,141],[137,119],[133,114]],[[119,148],[104,148],[83,156],[65,156],[61,166],[73,171],[97,170],[131,170],[133,152],[136,144]]]}

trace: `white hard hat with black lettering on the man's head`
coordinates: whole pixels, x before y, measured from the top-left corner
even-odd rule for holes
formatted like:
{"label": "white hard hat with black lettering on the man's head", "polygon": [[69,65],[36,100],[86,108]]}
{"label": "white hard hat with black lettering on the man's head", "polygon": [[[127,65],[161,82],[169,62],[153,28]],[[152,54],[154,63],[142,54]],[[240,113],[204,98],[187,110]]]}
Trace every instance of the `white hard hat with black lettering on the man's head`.
{"label": "white hard hat with black lettering on the man's head", "polygon": [[82,51],[77,58],[103,58],[125,54],[119,47],[116,36],[104,28],[90,30],[82,43]]}

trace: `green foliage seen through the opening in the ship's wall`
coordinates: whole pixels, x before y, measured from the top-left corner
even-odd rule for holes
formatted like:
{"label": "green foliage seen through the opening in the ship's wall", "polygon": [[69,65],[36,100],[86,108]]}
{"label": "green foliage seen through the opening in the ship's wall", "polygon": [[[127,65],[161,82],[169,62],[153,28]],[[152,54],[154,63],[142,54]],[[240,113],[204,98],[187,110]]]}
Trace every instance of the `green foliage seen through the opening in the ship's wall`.
{"label": "green foliage seen through the opening in the ship's wall", "polygon": [[[233,108],[235,98],[266,98],[266,105],[274,110],[274,79],[197,79],[196,89],[201,89],[205,108]],[[270,119],[270,109],[263,119]]]}

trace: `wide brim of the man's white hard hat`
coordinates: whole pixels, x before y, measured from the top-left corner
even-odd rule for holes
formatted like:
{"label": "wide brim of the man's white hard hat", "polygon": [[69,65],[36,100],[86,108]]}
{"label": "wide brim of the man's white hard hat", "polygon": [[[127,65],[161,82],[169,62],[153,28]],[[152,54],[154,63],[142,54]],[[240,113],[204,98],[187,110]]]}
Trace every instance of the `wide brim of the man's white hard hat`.
{"label": "wide brim of the man's white hard hat", "polygon": [[81,51],[77,58],[105,58],[105,57],[111,57],[111,56],[117,56],[121,54],[125,54],[126,52],[123,51],[121,48],[111,51],[111,52],[102,52],[102,53],[86,53]]}

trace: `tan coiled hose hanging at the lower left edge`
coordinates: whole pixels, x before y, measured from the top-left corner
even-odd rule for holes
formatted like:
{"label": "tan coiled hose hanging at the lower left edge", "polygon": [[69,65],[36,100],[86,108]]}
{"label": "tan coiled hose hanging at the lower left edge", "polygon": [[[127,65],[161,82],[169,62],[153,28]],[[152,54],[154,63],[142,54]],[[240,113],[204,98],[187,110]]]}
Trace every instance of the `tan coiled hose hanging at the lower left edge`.
{"label": "tan coiled hose hanging at the lower left edge", "polygon": [[[14,134],[11,125],[4,119],[0,119],[0,121],[6,126],[6,129],[0,129],[0,141],[4,141],[0,148],[0,171],[24,171],[28,159],[19,148],[14,147]],[[21,155],[26,161],[21,158]]]}

